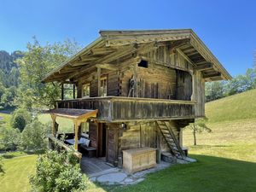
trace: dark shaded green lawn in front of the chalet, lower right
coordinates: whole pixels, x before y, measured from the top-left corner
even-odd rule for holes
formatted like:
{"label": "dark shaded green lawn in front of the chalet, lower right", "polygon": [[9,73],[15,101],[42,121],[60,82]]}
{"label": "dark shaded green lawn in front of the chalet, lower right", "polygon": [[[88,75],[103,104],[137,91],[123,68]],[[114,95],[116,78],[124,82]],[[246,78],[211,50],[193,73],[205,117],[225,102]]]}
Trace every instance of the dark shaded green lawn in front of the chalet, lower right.
{"label": "dark shaded green lawn in front of the chalet, lower right", "polygon": [[206,155],[191,155],[196,163],[175,165],[148,174],[131,186],[104,186],[106,191],[252,192],[256,191],[256,163]]}

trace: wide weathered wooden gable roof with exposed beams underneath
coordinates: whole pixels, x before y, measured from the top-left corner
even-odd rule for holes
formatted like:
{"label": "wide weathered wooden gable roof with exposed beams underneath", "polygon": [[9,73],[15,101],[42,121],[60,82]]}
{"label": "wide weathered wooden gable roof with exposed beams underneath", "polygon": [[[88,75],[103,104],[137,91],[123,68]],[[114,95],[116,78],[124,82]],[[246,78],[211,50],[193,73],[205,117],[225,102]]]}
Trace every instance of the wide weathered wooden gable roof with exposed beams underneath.
{"label": "wide weathered wooden gable roof with exposed beams underneath", "polygon": [[[147,51],[161,44],[172,44],[196,70],[203,73],[206,81],[228,80],[232,77],[191,29],[148,31],[101,31],[101,37],[81,49],[67,61],[48,73],[43,82],[64,82],[90,73],[96,67],[108,65],[114,59],[136,51]],[[107,64],[107,65],[106,65]],[[103,66],[103,65],[102,65]]]}

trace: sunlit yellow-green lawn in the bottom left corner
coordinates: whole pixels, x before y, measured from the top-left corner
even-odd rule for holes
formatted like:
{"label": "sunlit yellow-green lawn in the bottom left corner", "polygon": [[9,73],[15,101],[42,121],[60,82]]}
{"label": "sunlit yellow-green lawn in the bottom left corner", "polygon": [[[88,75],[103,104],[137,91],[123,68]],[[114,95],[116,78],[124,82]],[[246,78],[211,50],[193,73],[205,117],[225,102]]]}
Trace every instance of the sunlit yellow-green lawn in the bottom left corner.
{"label": "sunlit yellow-green lawn in the bottom left corner", "polygon": [[37,155],[26,155],[3,160],[5,174],[0,176],[1,192],[30,190],[29,175],[35,170]]}

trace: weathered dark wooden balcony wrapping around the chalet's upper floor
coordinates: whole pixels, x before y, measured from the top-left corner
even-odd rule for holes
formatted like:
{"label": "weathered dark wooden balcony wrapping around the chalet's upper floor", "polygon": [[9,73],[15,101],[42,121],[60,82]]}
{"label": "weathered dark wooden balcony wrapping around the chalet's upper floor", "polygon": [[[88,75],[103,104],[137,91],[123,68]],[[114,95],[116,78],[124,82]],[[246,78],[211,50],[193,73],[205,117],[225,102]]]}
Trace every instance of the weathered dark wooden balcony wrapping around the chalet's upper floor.
{"label": "weathered dark wooden balcony wrapping around the chalet's upper floor", "polygon": [[100,121],[193,119],[195,102],[138,97],[104,96],[57,101],[57,108],[98,109]]}

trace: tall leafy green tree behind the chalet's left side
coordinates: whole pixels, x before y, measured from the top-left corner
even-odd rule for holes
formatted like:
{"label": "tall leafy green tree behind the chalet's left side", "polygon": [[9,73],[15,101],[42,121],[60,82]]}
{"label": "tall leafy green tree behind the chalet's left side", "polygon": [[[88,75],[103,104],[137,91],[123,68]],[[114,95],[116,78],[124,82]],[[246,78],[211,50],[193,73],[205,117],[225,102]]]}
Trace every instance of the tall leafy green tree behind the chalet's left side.
{"label": "tall leafy green tree behind the chalet's left side", "polygon": [[52,69],[76,53],[78,44],[72,41],[42,46],[36,38],[27,44],[24,56],[17,60],[20,66],[20,86],[15,100],[17,106],[50,108],[60,96],[58,84],[43,84],[41,81]]}

